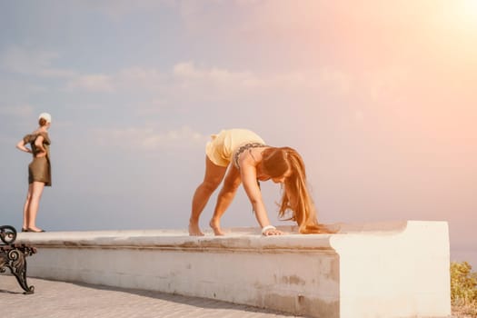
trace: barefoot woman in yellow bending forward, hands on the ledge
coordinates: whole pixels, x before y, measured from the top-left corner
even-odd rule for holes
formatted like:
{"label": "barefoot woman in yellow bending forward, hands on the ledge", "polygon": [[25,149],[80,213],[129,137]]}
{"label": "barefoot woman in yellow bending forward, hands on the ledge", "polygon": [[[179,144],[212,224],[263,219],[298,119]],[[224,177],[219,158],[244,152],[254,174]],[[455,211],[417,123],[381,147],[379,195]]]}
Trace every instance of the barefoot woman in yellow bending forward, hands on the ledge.
{"label": "barefoot woman in yellow bending forward, hands on the ledge", "polygon": [[224,185],[218,194],[214,215],[210,221],[215,235],[224,235],[220,218],[234,200],[241,183],[253,206],[255,217],[262,227],[262,234],[283,234],[270,224],[263,204],[258,182],[267,180],[283,184],[280,217],[290,210],[293,212],[290,219],[298,224],[300,233],[329,233],[316,220],[313,201],[306,184],[303,159],[293,148],[272,147],[266,145],[260,136],[250,130],[230,129],[212,135],[205,153],[204,181],[194,193],[189,220],[190,235],[204,235],[199,228],[199,217],[223,179]]}

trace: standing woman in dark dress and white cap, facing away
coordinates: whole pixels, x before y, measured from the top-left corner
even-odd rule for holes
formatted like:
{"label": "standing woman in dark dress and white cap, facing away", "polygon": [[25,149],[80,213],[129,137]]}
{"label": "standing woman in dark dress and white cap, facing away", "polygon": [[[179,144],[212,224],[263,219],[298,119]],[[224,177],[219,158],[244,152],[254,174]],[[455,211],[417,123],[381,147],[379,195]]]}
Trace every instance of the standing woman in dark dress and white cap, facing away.
{"label": "standing woman in dark dress and white cap, facing away", "polygon": [[[33,161],[28,165],[28,194],[24,205],[24,222],[22,232],[45,232],[36,227],[36,214],[38,206],[46,186],[51,186],[51,164],[50,164],[50,128],[52,117],[50,114],[42,113],[38,117],[38,129],[32,134],[26,134],[24,139],[16,144],[16,148],[25,153],[33,154]],[[26,147],[30,144],[30,148]]]}

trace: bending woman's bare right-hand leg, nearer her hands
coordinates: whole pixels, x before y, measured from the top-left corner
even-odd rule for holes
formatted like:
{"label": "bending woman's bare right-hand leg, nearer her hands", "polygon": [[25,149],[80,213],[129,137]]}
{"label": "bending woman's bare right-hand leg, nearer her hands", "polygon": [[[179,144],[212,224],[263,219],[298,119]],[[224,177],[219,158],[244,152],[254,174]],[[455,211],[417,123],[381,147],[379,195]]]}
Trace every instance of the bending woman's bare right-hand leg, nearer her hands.
{"label": "bending woman's bare right-hand leg, nearer her hands", "polygon": [[220,228],[220,219],[234,200],[240,184],[240,172],[234,167],[234,165],[232,165],[227,176],[225,176],[224,186],[217,196],[217,204],[215,204],[214,215],[210,222],[210,226],[214,230],[215,235],[224,235],[224,232],[222,232]]}

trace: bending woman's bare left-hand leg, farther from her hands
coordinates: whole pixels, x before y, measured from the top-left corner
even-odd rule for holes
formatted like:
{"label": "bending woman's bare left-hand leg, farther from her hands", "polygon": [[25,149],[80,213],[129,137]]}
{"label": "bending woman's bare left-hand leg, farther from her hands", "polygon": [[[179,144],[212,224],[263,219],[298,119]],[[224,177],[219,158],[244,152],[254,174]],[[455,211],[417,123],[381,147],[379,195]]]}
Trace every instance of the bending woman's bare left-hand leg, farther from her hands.
{"label": "bending woman's bare left-hand leg, farther from her hands", "polygon": [[204,207],[209,201],[210,196],[224,179],[227,167],[214,164],[205,156],[205,174],[204,181],[195,190],[192,200],[192,212],[189,219],[189,234],[195,236],[204,235],[199,227],[199,217],[204,211]]}

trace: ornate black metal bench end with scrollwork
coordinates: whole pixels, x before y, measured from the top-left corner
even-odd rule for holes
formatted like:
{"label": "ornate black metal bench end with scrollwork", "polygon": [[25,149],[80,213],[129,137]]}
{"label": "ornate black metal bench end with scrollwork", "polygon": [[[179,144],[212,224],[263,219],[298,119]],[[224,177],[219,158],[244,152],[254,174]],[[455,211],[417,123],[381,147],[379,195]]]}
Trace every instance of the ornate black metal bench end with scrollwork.
{"label": "ornate black metal bench end with scrollwork", "polygon": [[16,230],[10,225],[0,226],[0,273],[5,273],[6,268],[15,276],[26,293],[35,293],[34,286],[26,283],[26,256],[36,253],[35,247],[26,244],[15,244]]}

